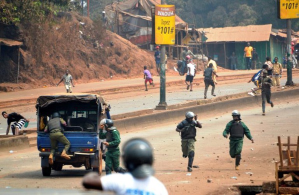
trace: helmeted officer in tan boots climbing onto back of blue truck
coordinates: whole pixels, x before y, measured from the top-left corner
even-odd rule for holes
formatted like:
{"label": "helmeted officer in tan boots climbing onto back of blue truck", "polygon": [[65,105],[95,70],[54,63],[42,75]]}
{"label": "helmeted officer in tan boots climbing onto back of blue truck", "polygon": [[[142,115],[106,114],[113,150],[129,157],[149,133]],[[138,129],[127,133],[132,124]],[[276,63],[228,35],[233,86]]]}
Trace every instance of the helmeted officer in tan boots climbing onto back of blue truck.
{"label": "helmeted officer in tan boots climbing onto back of blue truck", "polygon": [[70,157],[66,154],[70,147],[68,139],[63,135],[63,126],[66,126],[66,122],[60,118],[59,112],[53,112],[51,119],[48,121],[44,128],[44,132],[50,132],[49,138],[51,140],[51,150],[49,155],[49,164],[53,164],[53,154],[57,148],[58,141],[64,145],[64,149],[61,153],[61,157],[69,160]]}

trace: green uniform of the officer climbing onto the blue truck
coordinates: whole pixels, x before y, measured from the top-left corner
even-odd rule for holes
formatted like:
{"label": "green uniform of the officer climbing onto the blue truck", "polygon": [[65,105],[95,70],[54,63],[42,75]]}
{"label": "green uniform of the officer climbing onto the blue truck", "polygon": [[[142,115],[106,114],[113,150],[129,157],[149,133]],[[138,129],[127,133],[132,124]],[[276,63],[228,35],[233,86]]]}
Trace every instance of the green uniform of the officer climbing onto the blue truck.
{"label": "green uniform of the officer climbing onto the blue truck", "polygon": [[[56,119],[57,118],[53,118],[53,119],[50,119],[50,120],[56,120]],[[50,138],[50,141],[51,141],[51,150],[50,150],[51,154],[54,154],[55,150],[57,149],[58,141],[64,145],[63,150],[65,150],[65,152],[67,152],[69,147],[70,147],[70,143],[69,143],[68,139],[61,132],[61,131],[63,131],[62,125],[66,126],[65,121],[62,118],[59,118],[59,120],[57,120],[57,122],[60,122],[59,125],[56,124],[57,128],[49,129],[49,131],[50,131],[49,138]],[[58,126],[60,126],[60,127],[58,127]],[[48,127],[48,124],[47,124],[44,128],[44,132],[47,132],[48,128],[49,127]]]}

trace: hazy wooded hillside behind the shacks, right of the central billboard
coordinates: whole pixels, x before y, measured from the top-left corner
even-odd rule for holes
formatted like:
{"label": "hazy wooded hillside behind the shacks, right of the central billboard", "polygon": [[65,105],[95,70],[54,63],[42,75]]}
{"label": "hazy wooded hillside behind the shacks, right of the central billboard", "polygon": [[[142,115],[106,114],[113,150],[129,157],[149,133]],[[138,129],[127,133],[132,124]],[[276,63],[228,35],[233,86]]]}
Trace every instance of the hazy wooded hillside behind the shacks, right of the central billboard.
{"label": "hazy wooded hillside behind the shacks, right of the central billboard", "polygon": [[[286,24],[277,18],[276,0],[166,0],[166,3],[175,5],[176,14],[196,28],[272,24],[273,28],[284,29]],[[291,21],[292,29],[299,31],[299,19]]]}

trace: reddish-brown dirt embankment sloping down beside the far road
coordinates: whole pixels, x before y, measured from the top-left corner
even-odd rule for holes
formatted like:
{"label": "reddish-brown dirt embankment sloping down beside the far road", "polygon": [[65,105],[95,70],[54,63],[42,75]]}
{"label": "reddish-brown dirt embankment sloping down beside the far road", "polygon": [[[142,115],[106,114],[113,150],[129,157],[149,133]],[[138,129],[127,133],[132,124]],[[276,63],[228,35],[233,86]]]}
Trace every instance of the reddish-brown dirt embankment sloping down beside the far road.
{"label": "reddish-brown dirt embankment sloping down beside the far road", "polygon": [[[0,27],[0,37],[23,43],[18,84],[18,47],[1,46],[0,91],[53,86],[65,69],[69,69],[74,84],[142,77],[144,65],[157,75],[153,52],[76,13],[60,13],[45,24]],[[175,63],[168,61],[166,74],[177,74]]]}

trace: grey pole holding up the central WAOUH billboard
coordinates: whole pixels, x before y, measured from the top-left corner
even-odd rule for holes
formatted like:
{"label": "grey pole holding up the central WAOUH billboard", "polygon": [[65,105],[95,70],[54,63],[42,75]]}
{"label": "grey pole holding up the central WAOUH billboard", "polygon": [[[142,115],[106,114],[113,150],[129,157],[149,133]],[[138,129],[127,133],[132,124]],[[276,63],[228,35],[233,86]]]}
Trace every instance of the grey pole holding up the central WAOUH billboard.
{"label": "grey pole holding up the central WAOUH billboard", "polygon": [[[165,5],[165,0],[161,0],[161,5]],[[161,45],[160,50],[160,58],[161,58],[161,65],[160,65],[160,102],[155,107],[156,110],[166,110],[167,103],[166,103],[166,85],[165,85],[165,45]]]}

